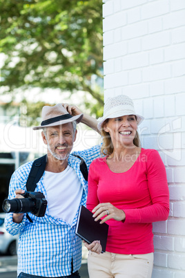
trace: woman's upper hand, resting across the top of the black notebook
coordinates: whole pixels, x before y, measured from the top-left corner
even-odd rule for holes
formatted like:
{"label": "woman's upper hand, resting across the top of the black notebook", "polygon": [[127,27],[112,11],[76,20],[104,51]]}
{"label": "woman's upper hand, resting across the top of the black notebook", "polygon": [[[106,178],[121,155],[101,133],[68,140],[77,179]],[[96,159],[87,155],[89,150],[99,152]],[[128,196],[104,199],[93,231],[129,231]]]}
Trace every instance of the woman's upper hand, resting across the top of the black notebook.
{"label": "woman's upper hand, resting across the top of the black notebook", "polygon": [[123,210],[119,210],[111,203],[100,203],[97,205],[92,212],[95,221],[98,221],[102,217],[106,216],[101,220],[101,224],[108,221],[109,219],[115,219],[116,221],[125,221],[126,215]]}

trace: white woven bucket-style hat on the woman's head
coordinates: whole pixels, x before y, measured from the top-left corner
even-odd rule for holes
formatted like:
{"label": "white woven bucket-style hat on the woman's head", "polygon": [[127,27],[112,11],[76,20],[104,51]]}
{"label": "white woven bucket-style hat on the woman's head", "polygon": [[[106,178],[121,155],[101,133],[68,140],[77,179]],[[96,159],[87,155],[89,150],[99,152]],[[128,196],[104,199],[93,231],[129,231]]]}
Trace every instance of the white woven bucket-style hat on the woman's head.
{"label": "white woven bucket-style hat on the woman's head", "polygon": [[137,124],[144,120],[144,117],[135,113],[133,100],[127,95],[117,95],[114,98],[108,98],[104,104],[104,115],[97,120],[97,128],[101,130],[102,124],[106,119],[118,118],[124,115],[136,115]]}

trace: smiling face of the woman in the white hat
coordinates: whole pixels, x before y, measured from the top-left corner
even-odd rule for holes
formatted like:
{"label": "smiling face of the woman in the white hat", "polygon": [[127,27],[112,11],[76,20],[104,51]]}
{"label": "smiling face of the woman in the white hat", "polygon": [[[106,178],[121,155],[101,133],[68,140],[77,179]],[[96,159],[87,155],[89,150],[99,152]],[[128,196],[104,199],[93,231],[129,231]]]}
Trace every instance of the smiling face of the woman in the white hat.
{"label": "smiling face of the woman in the white hat", "polygon": [[133,140],[137,131],[135,115],[124,115],[118,118],[108,119],[104,131],[110,134],[114,149],[120,147],[133,147]]}

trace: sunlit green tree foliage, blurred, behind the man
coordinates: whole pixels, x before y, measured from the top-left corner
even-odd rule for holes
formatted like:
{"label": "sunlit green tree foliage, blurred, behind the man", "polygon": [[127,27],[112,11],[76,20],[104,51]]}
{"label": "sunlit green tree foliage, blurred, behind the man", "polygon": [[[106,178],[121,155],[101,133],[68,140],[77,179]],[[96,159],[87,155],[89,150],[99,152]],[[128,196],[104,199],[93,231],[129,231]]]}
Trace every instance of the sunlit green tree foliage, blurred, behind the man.
{"label": "sunlit green tree foliage, blurred, behind the man", "polygon": [[101,115],[102,1],[0,0],[0,4],[0,52],[6,55],[1,68],[3,93],[35,87],[85,91],[95,100],[93,104],[84,100],[86,107]]}

